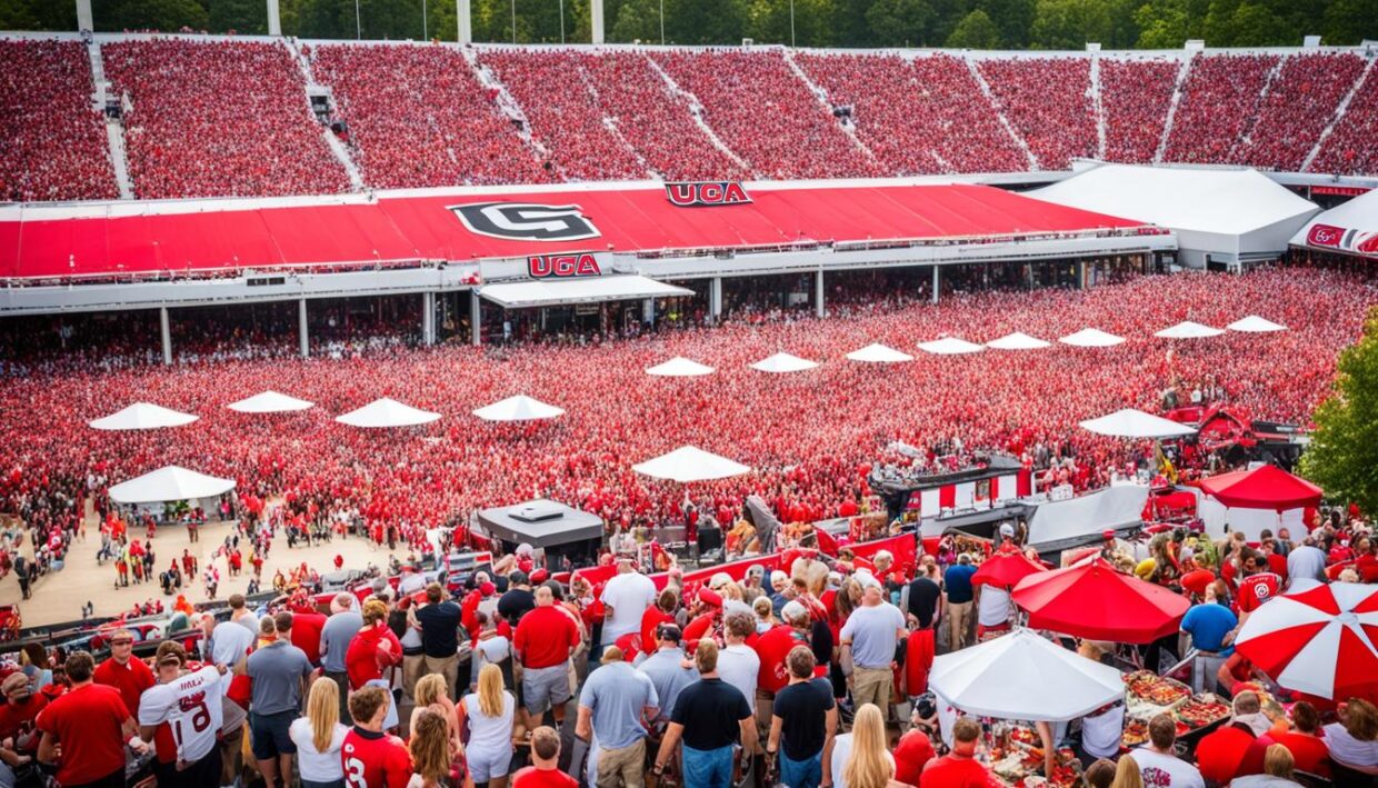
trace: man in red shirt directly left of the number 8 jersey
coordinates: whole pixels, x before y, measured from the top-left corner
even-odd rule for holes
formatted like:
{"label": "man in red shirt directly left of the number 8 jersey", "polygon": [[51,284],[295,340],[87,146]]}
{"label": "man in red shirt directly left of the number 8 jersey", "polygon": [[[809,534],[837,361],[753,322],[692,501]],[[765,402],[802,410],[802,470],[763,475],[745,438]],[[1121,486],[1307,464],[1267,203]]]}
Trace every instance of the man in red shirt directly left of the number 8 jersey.
{"label": "man in red shirt directly left of the number 8 jersey", "polygon": [[138,729],[120,693],[92,681],[91,654],[70,654],[65,668],[72,689],[39,715],[39,760],[56,763],[61,745],[58,782],[65,788],[124,788],[124,744],[141,754],[149,745],[135,736]]}

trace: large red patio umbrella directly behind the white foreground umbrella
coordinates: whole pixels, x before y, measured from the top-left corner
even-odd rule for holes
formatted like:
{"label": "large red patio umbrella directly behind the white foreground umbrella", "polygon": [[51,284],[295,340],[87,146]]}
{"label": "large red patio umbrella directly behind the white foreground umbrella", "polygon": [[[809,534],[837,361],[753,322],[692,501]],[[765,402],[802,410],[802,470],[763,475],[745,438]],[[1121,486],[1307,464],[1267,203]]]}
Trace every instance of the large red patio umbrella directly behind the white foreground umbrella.
{"label": "large red patio umbrella directly behind the white foreground umbrella", "polygon": [[1177,631],[1191,602],[1162,585],[1124,574],[1104,558],[1031,574],[1014,603],[1034,630],[1119,643],[1152,643]]}

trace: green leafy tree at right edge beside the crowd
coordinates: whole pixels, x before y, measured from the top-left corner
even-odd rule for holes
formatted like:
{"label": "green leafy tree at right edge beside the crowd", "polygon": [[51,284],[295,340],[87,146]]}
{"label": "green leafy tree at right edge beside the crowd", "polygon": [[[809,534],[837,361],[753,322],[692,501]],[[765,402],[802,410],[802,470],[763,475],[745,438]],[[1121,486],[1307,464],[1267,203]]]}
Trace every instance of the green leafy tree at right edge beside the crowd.
{"label": "green leafy tree at right edge beside the crowd", "polygon": [[1363,338],[1341,351],[1334,391],[1315,422],[1301,475],[1331,500],[1378,512],[1378,309],[1368,313]]}

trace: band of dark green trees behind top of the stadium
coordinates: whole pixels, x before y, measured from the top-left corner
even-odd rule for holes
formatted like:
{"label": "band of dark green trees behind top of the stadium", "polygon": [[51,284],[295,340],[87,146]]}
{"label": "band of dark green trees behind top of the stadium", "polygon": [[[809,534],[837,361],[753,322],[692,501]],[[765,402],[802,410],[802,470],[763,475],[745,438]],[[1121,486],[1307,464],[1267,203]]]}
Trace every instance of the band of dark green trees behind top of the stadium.
{"label": "band of dark green trees behind top of the stadium", "polygon": [[[92,0],[98,30],[267,32],[266,0]],[[356,17],[356,7],[358,14]],[[1175,50],[1378,39],[1378,0],[794,0],[801,47]],[[453,41],[455,0],[280,0],[282,32],[305,39]],[[590,0],[471,0],[478,41],[588,41]],[[790,0],[604,0],[609,41],[788,44]],[[564,26],[561,26],[564,10]],[[424,15],[424,17],[423,17]],[[423,21],[424,19],[424,21]],[[0,0],[0,29],[72,30],[72,0]],[[992,28],[995,36],[992,36]]]}

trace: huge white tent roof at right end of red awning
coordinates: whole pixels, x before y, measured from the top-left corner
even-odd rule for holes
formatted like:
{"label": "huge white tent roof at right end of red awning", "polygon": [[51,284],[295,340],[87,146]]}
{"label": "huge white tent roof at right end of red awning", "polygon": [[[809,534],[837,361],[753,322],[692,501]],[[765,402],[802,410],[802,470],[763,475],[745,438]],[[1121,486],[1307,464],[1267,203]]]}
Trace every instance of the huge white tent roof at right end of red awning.
{"label": "huge white tent roof at right end of red awning", "polygon": [[1167,227],[1193,269],[1280,255],[1320,211],[1255,169],[1098,164],[1025,196]]}

